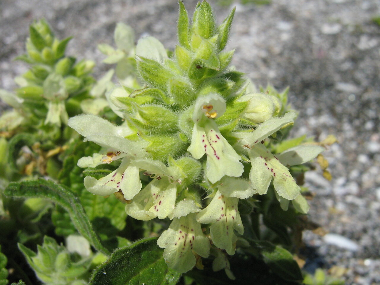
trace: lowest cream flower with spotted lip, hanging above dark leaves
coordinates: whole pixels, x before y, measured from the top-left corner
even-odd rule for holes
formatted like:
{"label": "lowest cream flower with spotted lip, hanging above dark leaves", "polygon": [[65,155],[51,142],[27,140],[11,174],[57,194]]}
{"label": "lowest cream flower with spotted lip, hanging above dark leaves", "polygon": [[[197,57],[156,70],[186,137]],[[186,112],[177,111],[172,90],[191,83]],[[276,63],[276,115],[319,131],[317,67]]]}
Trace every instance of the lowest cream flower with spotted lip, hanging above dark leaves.
{"label": "lowest cream flower with spotted lip, hanging above dark leaves", "polygon": [[210,252],[209,239],[202,233],[195,214],[174,218],[168,230],[158,238],[157,244],[165,249],[163,256],[168,266],[180,273],[194,267],[195,253],[207,257]]}

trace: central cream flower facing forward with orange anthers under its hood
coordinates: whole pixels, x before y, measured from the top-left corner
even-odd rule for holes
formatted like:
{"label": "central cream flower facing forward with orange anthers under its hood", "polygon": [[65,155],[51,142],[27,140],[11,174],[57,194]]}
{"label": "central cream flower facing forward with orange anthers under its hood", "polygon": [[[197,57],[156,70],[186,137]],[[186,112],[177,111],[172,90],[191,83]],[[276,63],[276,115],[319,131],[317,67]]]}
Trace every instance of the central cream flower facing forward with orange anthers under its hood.
{"label": "central cream flower facing forward with orange anthers under its hood", "polygon": [[223,176],[239,177],[243,173],[240,156],[228,141],[220,134],[213,119],[222,116],[226,110],[224,99],[211,93],[199,97],[193,113],[193,135],[188,152],[196,159],[207,155],[206,176],[215,183]]}

